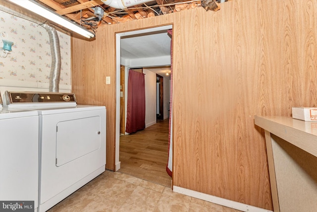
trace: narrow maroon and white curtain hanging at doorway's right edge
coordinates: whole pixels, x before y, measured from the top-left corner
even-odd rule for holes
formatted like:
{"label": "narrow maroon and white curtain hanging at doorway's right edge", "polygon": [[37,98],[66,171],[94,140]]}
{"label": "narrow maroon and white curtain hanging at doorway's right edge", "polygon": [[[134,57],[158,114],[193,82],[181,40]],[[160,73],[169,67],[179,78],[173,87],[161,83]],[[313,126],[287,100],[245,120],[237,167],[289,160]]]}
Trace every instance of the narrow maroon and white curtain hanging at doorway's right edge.
{"label": "narrow maroon and white curtain hanging at doorway's right edge", "polygon": [[[167,33],[170,35],[172,38],[173,30],[169,29],[167,30]],[[171,143],[171,138],[170,138],[170,126],[171,126],[171,121],[172,121],[172,93],[173,93],[173,38],[170,41],[170,99],[169,99],[169,124],[168,124],[168,161],[166,164],[166,172],[169,176],[172,176],[172,164],[171,164],[171,159],[173,155],[170,155],[170,143]]]}

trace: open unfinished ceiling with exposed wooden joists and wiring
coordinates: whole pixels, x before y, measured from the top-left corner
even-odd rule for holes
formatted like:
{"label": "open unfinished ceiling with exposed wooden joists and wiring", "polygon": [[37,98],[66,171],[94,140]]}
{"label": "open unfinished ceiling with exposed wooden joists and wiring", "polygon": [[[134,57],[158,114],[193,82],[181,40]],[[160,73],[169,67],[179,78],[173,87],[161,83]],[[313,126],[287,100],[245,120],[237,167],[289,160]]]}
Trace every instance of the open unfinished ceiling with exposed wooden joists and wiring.
{"label": "open unfinished ceiling with exposed wooden joists and wiring", "polygon": [[[155,17],[173,12],[203,6],[216,11],[220,0],[32,0],[53,12],[97,31],[109,24],[123,23],[137,19]],[[136,1],[141,2],[136,4]],[[225,0],[227,1],[227,0]],[[106,5],[106,4],[109,5]],[[122,4],[122,5],[120,5]],[[126,4],[126,5],[124,5]],[[129,6],[132,5],[132,6]],[[126,7],[128,6],[128,7]],[[121,9],[123,8],[123,9]]]}

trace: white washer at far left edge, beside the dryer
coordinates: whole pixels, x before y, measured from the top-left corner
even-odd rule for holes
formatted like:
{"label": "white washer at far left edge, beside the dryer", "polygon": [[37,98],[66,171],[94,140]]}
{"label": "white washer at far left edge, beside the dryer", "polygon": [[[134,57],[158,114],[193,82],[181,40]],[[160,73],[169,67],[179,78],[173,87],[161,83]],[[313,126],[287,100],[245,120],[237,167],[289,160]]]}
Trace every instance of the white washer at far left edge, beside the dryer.
{"label": "white washer at far left edge, beside the dryer", "polygon": [[38,113],[0,108],[0,201],[34,201],[37,211],[38,167]]}

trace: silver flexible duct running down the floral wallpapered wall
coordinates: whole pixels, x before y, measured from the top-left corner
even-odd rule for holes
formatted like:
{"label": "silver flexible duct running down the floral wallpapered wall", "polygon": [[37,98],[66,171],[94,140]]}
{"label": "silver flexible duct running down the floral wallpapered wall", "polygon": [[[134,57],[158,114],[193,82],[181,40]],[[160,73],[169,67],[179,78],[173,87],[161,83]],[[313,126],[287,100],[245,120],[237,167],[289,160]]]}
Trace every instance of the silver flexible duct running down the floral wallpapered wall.
{"label": "silver flexible duct running down the floral wallpapered wall", "polygon": [[[5,2],[3,2],[5,3]],[[9,13],[11,15],[32,21],[36,24],[39,24],[40,26],[43,26],[46,31],[49,34],[50,37],[50,45],[51,45],[51,54],[52,54],[52,68],[50,73],[50,92],[58,92],[59,91],[59,79],[60,79],[60,67],[61,67],[61,57],[60,57],[60,47],[59,47],[59,39],[57,35],[56,29],[53,27],[53,25],[48,23],[43,23],[46,20],[45,19],[36,19],[31,18],[28,15],[23,14],[22,12],[15,11],[11,8],[10,4],[5,3],[2,5],[2,2],[0,4],[0,10],[4,11],[6,13]]]}

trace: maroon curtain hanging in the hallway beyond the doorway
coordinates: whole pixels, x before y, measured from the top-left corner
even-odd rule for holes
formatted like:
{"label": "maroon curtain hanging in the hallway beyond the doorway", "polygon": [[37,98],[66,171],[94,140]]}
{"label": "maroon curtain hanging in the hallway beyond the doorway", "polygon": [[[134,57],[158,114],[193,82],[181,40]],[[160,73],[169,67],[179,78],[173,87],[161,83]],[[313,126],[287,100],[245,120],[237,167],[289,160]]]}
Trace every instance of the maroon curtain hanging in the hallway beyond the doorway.
{"label": "maroon curtain hanging in the hallway beyond the doorway", "polygon": [[135,133],[145,128],[145,80],[144,74],[129,70],[127,125],[125,132]]}

